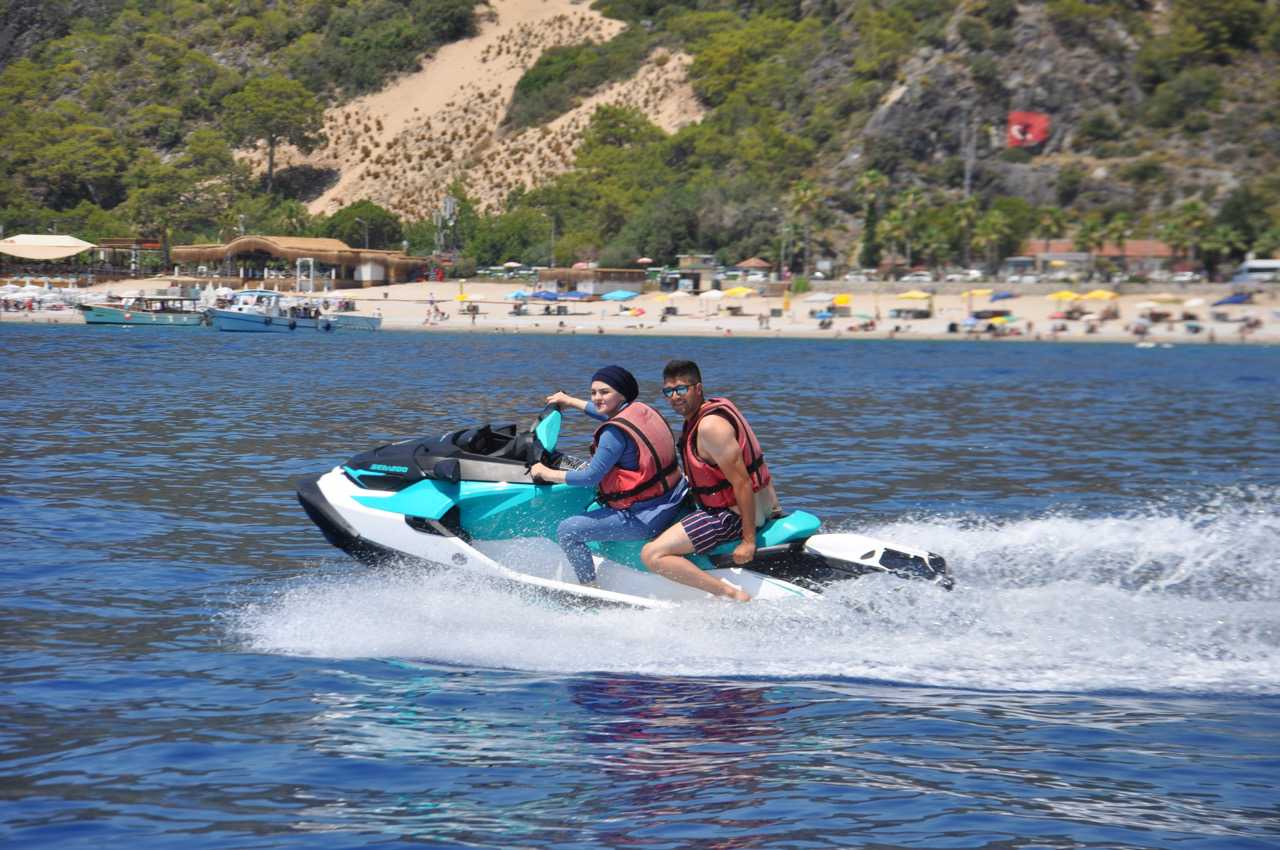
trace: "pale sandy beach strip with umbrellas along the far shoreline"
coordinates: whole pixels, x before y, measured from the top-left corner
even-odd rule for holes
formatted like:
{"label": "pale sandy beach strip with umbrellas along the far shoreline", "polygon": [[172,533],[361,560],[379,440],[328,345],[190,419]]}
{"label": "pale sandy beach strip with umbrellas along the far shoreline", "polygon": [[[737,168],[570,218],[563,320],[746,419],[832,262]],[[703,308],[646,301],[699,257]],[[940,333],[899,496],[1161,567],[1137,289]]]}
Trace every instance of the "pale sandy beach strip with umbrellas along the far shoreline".
{"label": "pale sandy beach strip with umbrellas along the far shoreline", "polygon": [[[196,279],[151,278],[124,280],[111,284],[99,284],[93,291],[125,292],[143,289],[151,292],[165,288],[169,282],[193,284]],[[273,282],[274,283],[274,282]],[[282,287],[284,282],[282,282]],[[978,284],[991,285],[991,284]],[[1001,342],[1029,341],[1073,341],[1073,342],[1112,342],[1112,343],[1262,343],[1280,344],[1280,297],[1276,292],[1256,296],[1256,303],[1211,307],[1228,289],[1219,287],[1188,287],[1175,294],[1180,300],[1172,303],[1160,303],[1161,291],[1121,293],[1114,301],[1082,301],[1079,305],[1088,311],[1101,314],[1108,306],[1119,316],[1105,321],[1098,320],[1057,320],[1051,314],[1059,312],[1064,305],[1050,300],[1046,294],[1021,294],[1016,298],[989,303],[987,297],[966,297],[959,292],[940,293],[933,297],[933,316],[931,319],[895,319],[891,310],[927,307],[928,301],[904,300],[900,293],[909,287],[895,283],[860,284],[849,296],[847,317],[833,316],[828,328],[819,328],[819,320],[810,312],[824,310],[836,293],[805,293],[787,300],[763,298],[759,296],[717,301],[696,296],[671,297],[660,293],[645,293],[630,301],[617,303],[607,301],[544,302],[532,300],[525,302],[525,315],[513,311],[521,302],[509,298],[517,289],[527,288],[522,282],[492,280],[451,280],[444,283],[399,283],[367,289],[342,289],[320,293],[317,298],[344,298],[355,301],[357,312],[380,315],[385,330],[416,330],[424,333],[543,333],[543,334],[641,334],[641,335],[698,335],[698,337],[796,337],[814,339],[984,339]],[[283,292],[283,289],[282,289]],[[305,293],[289,293],[305,297]],[[465,296],[465,301],[460,300]],[[1156,298],[1155,307],[1153,298]],[[1196,300],[1201,303],[1196,303]],[[443,319],[430,320],[431,305]],[[1190,302],[1190,306],[1184,306]],[[466,310],[474,305],[476,312]],[[664,309],[673,307],[676,315],[667,315]],[[557,310],[564,310],[558,314]],[[964,321],[970,311],[1002,309],[1012,312],[1019,321],[1007,325],[1009,332],[1001,335],[984,333],[987,321],[979,321],[974,329],[966,330]],[[1169,312],[1172,321],[1147,324],[1146,334],[1134,333],[1134,323],[1151,309]],[[1180,321],[1183,312],[1194,314],[1201,326],[1199,333],[1188,333],[1187,324]],[[740,314],[740,315],[735,315]],[[1225,315],[1229,320],[1220,321],[1212,314]],[[767,316],[767,324],[762,320]],[[874,321],[874,329],[865,329]],[[1247,333],[1242,333],[1242,319],[1252,317],[1261,321]],[[82,324],[83,319],[74,309],[44,310],[35,312],[5,312],[0,321],[27,321],[37,324]],[[955,325],[956,332],[948,328]],[[1053,330],[1055,326],[1065,330]],[[1093,328],[1089,332],[1089,328]]]}

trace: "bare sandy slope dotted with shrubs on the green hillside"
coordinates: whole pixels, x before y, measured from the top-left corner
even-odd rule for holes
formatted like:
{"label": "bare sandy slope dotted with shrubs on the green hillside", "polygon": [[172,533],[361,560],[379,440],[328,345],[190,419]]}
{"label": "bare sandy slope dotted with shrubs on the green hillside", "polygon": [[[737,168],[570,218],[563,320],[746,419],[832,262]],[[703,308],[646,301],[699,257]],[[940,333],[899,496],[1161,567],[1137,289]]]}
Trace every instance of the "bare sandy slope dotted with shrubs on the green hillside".
{"label": "bare sandy slope dotted with shrubs on the green hillside", "polygon": [[570,168],[573,150],[600,104],[635,106],[663,129],[701,118],[687,82],[689,56],[655,52],[628,81],[602,91],[545,127],[497,132],[520,77],[544,50],[603,42],[623,27],[572,0],[492,0],[474,38],[447,45],[421,70],[325,115],[329,143],[308,156],[294,150],[279,165],[337,169],[337,184],[311,202],[333,212],[372,200],[407,220],[430,218],[449,183],[463,177],[486,207]]}

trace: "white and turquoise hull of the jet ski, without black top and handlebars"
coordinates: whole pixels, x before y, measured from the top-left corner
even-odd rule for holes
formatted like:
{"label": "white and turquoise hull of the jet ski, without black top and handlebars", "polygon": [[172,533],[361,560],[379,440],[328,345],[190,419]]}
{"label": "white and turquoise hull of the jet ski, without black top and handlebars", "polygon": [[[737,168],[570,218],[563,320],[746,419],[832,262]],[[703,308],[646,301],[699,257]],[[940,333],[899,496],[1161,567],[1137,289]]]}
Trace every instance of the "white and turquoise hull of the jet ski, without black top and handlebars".
{"label": "white and turquoise hull of the jet ski, without black top and handlebars", "polygon": [[[472,484],[470,489],[419,481],[399,492],[370,490],[362,486],[360,470],[348,466],[300,481],[297,495],[325,539],[365,563],[413,559],[474,568],[489,581],[572,605],[655,608],[708,597],[645,570],[637,557],[640,543],[598,547],[599,586],[577,584],[552,541],[556,524],[585,507],[577,504],[581,493],[572,490],[517,481]],[[572,503],[566,502],[570,495]],[[570,504],[572,509],[567,509]],[[805,527],[805,518],[817,530],[817,520],[801,512],[792,515],[791,524]],[[476,527],[486,534],[472,535]],[[762,529],[756,559],[745,568],[733,565],[727,552],[700,566],[754,599],[812,598],[832,582],[868,572],[895,572],[950,588],[937,556],[852,534],[787,540],[795,527],[778,524]],[[782,541],[769,545],[771,538]],[[896,553],[892,557],[915,572],[886,568],[881,563],[886,553]]]}

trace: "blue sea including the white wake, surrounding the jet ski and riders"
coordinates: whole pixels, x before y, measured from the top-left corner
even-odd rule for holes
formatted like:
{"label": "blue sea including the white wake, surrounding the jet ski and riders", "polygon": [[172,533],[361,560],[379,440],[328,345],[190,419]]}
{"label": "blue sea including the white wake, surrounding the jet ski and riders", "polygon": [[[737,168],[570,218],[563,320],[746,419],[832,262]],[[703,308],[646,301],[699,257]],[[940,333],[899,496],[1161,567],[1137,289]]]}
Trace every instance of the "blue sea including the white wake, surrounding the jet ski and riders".
{"label": "blue sea including the white wake, surrounding the jet ski and riders", "polygon": [[[573,612],[294,501],[671,357],[956,589]],[[1280,846],[1280,349],[0,324],[0,374],[5,849]]]}

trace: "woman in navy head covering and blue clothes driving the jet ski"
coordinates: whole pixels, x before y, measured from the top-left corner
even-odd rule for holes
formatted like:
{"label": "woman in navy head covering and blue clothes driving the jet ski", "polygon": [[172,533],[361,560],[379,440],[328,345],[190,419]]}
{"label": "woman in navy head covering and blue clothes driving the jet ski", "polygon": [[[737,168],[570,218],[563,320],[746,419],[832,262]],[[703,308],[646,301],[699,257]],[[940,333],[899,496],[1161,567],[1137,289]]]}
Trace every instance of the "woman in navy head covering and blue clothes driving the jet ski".
{"label": "woman in navy head covering and blue clothes driving the jet ski", "polygon": [[563,392],[548,405],[582,411],[602,425],[591,440],[591,462],[582,470],[553,470],[534,463],[535,481],[596,488],[603,507],[559,524],[556,538],[577,580],[595,584],[590,540],[648,540],[676,521],[687,493],[676,457],[676,438],[662,413],[637,402],[640,385],[622,366],[605,366],[591,376],[591,398]]}

